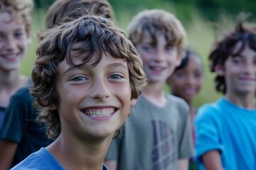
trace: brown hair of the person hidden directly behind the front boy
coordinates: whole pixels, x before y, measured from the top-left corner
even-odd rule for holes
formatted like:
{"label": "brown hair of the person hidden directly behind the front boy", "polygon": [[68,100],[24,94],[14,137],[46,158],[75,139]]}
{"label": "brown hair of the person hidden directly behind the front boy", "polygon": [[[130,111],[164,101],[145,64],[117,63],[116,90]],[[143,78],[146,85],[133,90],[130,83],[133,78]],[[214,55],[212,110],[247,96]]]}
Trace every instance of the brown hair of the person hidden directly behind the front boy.
{"label": "brown hair of the person hidden directly behind the front boy", "polygon": [[93,15],[114,19],[114,12],[107,0],[57,0],[46,14],[46,28],[62,23],[65,17],[78,8]]}

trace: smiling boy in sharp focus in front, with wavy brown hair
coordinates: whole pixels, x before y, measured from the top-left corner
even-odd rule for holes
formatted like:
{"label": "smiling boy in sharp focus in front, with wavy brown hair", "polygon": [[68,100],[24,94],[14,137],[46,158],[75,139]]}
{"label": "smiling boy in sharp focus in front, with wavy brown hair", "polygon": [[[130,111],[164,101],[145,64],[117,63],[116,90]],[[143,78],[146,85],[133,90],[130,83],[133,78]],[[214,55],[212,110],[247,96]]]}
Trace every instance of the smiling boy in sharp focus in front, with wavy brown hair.
{"label": "smiling boy in sharp focus in front, with wavy brown hair", "polygon": [[114,132],[146,85],[142,60],[124,32],[100,16],[83,16],[44,35],[31,94],[38,119],[56,140],[14,169],[107,169],[103,160]]}

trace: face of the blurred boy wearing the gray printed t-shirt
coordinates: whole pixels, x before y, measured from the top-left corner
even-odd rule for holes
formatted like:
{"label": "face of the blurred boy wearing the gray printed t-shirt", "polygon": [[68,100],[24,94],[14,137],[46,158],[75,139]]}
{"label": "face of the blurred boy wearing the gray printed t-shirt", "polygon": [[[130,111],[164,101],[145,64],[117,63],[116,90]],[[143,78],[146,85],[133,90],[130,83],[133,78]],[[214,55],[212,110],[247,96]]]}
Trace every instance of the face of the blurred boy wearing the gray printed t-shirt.
{"label": "face of the blurred boy wearing the gray printed t-shirt", "polygon": [[163,34],[156,35],[156,42],[149,33],[145,32],[142,42],[137,45],[142,57],[144,71],[151,82],[164,83],[181,62],[176,47],[168,45]]}

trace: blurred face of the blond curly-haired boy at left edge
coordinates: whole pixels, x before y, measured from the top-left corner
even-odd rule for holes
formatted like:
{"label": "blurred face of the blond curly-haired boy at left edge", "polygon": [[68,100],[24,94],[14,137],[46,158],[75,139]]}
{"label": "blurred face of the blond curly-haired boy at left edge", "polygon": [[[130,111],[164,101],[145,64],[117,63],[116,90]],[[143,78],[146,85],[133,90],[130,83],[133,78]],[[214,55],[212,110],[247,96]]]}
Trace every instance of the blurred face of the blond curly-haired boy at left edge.
{"label": "blurred face of the blond curly-haired boy at left edge", "polygon": [[5,72],[19,68],[30,42],[25,24],[17,20],[0,12],[0,69]]}

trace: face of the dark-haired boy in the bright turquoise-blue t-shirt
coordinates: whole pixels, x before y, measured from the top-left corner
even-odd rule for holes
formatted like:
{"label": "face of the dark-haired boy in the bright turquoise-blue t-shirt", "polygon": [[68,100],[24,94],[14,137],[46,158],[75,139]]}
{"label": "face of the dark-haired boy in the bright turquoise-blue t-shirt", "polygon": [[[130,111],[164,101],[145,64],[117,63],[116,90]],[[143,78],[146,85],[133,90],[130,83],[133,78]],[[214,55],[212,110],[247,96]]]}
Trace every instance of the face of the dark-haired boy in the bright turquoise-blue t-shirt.
{"label": "face of the dark-haired boy in the bright turquoise-blue t-shirt", "polygon": [[[240,42],[235,45],[233,54],[240,48],[240,45]],[[239,55],[229,56],[225,61],[223,76],[227,86],[226,94],[253,94],[254,96],[256,90],[255,50],[245,45]]]}

